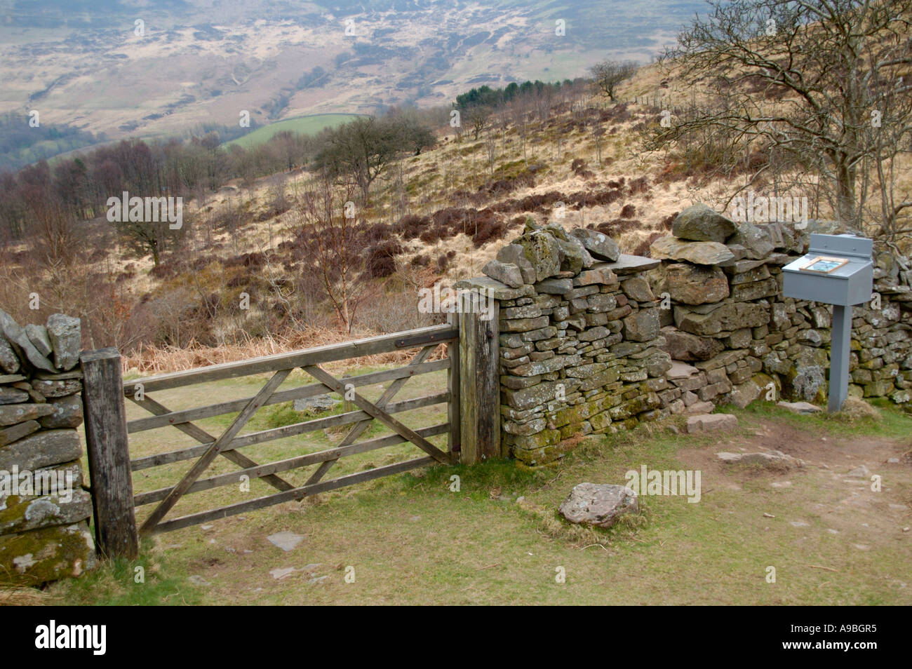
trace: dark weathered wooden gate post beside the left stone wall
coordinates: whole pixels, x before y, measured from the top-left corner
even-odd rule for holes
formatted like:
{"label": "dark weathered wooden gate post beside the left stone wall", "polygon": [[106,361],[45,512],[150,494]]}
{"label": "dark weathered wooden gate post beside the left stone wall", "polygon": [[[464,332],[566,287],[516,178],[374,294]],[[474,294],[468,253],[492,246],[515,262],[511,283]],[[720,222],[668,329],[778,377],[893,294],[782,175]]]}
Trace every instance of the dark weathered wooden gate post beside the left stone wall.
{"label": "dark weathered wooden gate post beside the left stone wall", "polygon": [[120,354],[116,348],[102,348],[84,351],[79,360],[84,377],[82,404],[95,541],[105,557],[133,559],[140,552],[140,544],[133,509]]}

